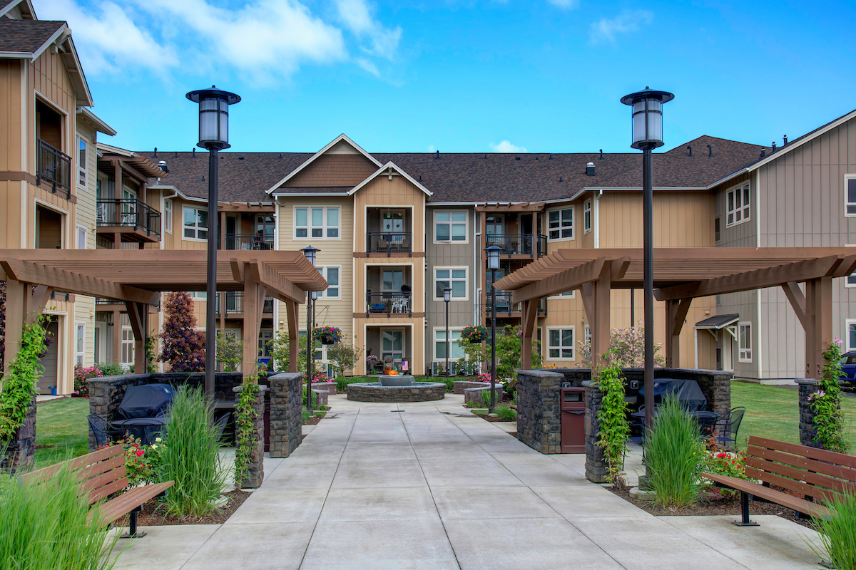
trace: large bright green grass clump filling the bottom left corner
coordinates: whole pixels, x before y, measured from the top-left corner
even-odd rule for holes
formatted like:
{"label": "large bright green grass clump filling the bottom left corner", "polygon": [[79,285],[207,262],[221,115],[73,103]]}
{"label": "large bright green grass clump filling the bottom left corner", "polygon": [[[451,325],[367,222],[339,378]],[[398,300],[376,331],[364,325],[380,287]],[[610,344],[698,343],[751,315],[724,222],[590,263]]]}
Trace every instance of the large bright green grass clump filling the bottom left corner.
{"label": "large bright green grass clump filling the bottom left corner", "polygon": [[107,536],[98,511],[67,468],[39,485],[0,474],[0,567],[107,570],[118,535]]}

